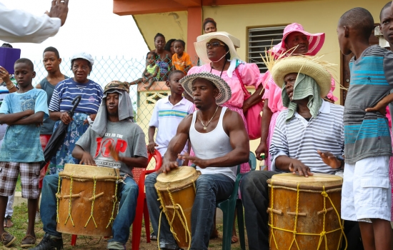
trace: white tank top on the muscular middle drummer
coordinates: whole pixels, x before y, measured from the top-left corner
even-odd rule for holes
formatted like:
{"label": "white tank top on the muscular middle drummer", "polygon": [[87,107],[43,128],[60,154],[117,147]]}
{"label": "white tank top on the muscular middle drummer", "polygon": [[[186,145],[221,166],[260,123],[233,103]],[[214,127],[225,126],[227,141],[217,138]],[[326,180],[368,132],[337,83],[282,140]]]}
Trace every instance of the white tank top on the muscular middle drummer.
{"label": "white tank top on the muscular middle drummer", "polygon": [[[224,156],[232,151],[232,146],[229,141],[229,136],[224,131],[222,126],[222,120],[224,118],[227,107],[222,107],[221,114],[219,115],[219,122],[215,129],[208,133],[199,133],[195,129],[195,121],[197,121],[198,111],[194,111],[191,121],[191,127],[189,128],[189,139],[191,141],[192,149],[194,150],[195,156],[200,159],[214,159],[217,157]],[[202,174],[224,174],[232,180],[236,179],[236,166],[229,167],[208,167],[201,169],[197,166],[197,170],[201,171]]]}

